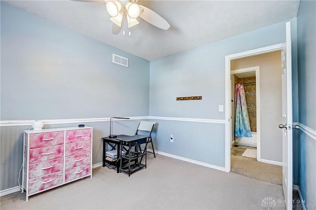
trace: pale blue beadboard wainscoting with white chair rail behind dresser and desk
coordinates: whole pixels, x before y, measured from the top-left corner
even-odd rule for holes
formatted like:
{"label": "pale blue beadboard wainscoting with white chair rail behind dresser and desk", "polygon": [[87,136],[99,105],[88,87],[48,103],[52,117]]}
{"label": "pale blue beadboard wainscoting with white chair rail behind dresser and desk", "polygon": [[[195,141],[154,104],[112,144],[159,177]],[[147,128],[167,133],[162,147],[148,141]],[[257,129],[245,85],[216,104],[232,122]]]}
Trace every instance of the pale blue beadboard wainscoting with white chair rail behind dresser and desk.
{"label": "pale blue beadboard wainscoting with white chair rail behind dresser and desk", "polygon": [[[224,166],[224,120],[176,118],[158,116],[136,116],[130,119],[113,119],[113,133],[134,135],[139,120],[156,121],[158,129],[154,132],[155,149],[158,154],[188,161],[209,168],[223,170]],[[28,130],[35,120],[0,121],[1,165],[0,195],[20,190],[17,184],[19,169],[23,160],[23,130]],[[41,120],[45,128],[73,127],[85,124],[93,127],[93,168],[102,166],[101,138],[109,135],[110,117],[84,119]],[[175,134],[175,142],[170,144],[170,134]],[[167,137],[167,138],[166,138]],[[3,143],[3,144],[2,144]],[[3,146],[5,145],[5,146]],[[195,150],[192,155],[191,149]],[[190,151],[190,152],[188,152]]]}

